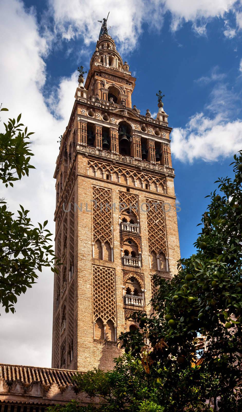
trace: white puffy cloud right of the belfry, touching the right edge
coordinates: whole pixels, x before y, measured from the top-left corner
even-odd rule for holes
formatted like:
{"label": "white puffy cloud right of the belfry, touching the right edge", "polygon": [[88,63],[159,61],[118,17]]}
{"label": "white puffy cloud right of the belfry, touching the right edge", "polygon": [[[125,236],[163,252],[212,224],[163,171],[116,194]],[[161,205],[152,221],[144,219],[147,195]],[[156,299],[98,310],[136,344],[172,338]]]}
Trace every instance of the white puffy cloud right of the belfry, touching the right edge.
{"label": "white puffy cloud right of the belfry, touching the right edge", "polygon": [[171,137],[171,152],[182,162],[217,162],[242,148],[242,120],[224,121],[221,115],[210,119],[197,113],[186,127],[175,128]]}

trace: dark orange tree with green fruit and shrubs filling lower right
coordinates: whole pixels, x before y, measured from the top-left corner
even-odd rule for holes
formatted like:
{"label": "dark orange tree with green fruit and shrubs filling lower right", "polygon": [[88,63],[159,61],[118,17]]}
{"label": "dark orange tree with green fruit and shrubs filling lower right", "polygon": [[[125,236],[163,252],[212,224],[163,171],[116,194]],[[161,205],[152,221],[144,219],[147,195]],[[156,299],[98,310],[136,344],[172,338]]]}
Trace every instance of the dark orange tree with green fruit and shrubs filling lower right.
{"label": "dark orange tree with green fruit and shrubs filling lower right", "polygon": [[[242,410],[242,152],[234,159],[233,180],[220,178],[220,194],[210,194],[196,254],[180,260],[170,282],[154,276],[152,313],[135,312],[139,328],[120,336],[126,354],[111,372],[74,378],[100,405],[55,409]],[[205,337],[201,350],[198,334]]]}

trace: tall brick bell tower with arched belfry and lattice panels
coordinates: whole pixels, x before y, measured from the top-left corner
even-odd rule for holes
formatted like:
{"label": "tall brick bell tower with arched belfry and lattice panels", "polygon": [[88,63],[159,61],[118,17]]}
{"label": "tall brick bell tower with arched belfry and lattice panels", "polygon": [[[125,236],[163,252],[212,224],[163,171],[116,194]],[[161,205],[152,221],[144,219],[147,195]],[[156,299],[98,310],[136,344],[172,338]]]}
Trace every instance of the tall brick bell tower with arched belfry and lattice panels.
{"label": "tall brick bell tower with arched belfry and lattice panels", "polygon": [[56,162],[53,368],[112,368],[131,312],[150,311],[152,274],[170,279],[180,258],[168,115],[132,108],[136,79],[106,33]]}

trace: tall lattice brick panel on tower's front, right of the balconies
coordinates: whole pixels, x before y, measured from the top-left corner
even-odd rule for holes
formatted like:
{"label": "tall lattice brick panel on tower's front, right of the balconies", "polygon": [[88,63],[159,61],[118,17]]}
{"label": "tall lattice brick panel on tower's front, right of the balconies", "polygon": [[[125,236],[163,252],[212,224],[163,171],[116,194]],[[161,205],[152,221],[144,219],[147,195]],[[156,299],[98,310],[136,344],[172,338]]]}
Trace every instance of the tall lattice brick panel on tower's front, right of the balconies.
{"label": "tall lattice brick panel on tower's front, right of the balconies", "polygon": [[146,199],[149,252],[167,256],[166,229],[163,202]]}

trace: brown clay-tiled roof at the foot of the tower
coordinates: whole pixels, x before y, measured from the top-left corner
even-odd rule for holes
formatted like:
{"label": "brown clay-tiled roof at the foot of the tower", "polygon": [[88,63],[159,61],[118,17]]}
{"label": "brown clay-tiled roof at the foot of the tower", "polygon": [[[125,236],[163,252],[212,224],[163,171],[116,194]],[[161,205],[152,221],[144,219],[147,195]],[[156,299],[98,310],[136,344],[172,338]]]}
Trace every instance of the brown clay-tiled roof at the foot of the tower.
{"label": "brown clay-tiled roof at the foot of the tower", "polygon": [[76,374],[74,370],[37,368],[35,366],[5,365],[0,363],[0,379],[5,379],[7,384],[18,381],[23,385],[29,386],[34,382],[42,385],[51,386],[53,383],[58,386],[72,384],[71,377]]}

